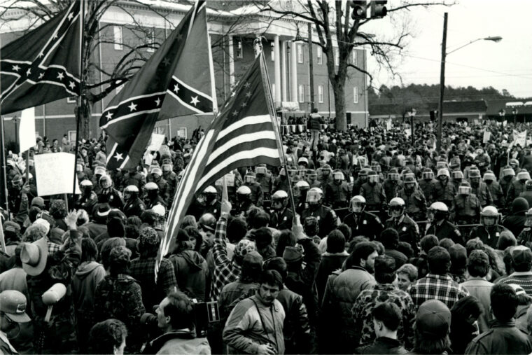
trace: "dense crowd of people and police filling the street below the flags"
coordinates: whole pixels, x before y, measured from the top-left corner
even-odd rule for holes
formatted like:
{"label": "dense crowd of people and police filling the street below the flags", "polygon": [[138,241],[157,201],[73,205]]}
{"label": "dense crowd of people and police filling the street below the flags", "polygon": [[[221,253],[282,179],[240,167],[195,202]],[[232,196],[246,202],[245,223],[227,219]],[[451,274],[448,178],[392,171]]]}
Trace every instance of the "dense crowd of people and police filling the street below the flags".
{"label": "dense crowd of people and police filling the street below the flags", "polygon": [[430,123],[314,118],[283,135],[285,166],[198,191],[157,274],[201,134],[125,171],[80,141],[67,201],[38,195],[42,141],[27,167],[9,154],[0,351],[530,354],[532,145],[512,143],[529,127],[446,123],[438,151]]}

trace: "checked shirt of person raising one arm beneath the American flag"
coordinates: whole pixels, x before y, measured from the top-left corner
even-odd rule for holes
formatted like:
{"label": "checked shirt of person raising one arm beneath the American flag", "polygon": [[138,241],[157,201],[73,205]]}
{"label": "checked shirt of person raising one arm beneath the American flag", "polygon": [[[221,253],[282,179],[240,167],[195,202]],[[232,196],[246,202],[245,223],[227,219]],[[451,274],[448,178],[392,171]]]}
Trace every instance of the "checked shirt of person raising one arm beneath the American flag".
{"label": "checked shirt of person raising one arm beneath the American flag", "polygon": [[227,230],[228,218],[221,216],[216,223],[214,232],[214,245],[212,252],[214,256],[214,274],[211,286],[211,300],[218,300],[223,286],[230,282],[237,281],[240,276],[241,267],[228,258],[228,251],[225,244],[225,234]]}

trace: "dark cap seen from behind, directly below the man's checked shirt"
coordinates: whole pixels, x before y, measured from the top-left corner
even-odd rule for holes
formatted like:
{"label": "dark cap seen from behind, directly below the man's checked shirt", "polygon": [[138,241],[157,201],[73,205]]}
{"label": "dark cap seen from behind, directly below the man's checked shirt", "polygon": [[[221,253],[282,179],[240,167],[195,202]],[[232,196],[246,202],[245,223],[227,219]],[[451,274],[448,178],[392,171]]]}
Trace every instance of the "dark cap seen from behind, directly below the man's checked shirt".
{"label": "dark cap seen from behind, directly below the man's checked shirt", "polygon": [[451,311],[440,300],[427,300],[416,313],[416,329],[428,337],[442,337],[449,332]]}

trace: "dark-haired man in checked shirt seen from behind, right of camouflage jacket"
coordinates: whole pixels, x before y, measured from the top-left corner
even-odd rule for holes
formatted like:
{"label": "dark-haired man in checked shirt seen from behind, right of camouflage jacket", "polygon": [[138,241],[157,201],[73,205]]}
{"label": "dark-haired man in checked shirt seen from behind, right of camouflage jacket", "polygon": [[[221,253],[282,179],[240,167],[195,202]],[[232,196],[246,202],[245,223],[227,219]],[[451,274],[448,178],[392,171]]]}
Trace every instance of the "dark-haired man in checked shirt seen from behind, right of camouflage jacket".
{"label": "dark-haired man in checked shirt seen from behind, right of camouflage jacket", "polygon": [[450,266],[451,256],[446,249],[433,246],[428,251],[428,274],[407,289],[416,308],[426,300],[440,300],[451,309],[456,301],[469,295],[465,288],[447,274]]}

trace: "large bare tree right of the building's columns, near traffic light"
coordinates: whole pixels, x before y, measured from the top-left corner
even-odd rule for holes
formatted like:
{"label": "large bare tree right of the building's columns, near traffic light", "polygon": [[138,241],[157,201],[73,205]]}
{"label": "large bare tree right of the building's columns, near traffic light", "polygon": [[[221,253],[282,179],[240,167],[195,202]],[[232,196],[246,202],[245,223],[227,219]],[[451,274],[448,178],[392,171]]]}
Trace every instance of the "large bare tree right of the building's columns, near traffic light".
{"label": "large bare tree right of the building's columns, near traffic light", "polygon": [[[367,34],[361,31],[365,25],[379,20],[367,18],[363,20],[351,19],[350,1],[307,0],[297,1],[291,8],[287,2],[296,1],[271,1],[268,4],[257,4],[262,13],[274,13],[281,18],[293,18],[304,22],[311,22],[317,34],[317,41],[313,44],[320,46],[327,56],[327,69],[330,85],[335,97],[336,128],[346,130],[345,110],[345,85],[349,76],[349,68],[356,69],[365,74],[372,81],[372,75],[367,69],[353,64],[349,58],[353,48],[369,47],[371,55],[377,60],[379,67],[384,67],[392,76],[397,76],[395,61],[398,54],[407,46],[407,39],[412,34],[407,21],[400,21],[396,14],[404,13],[409,8],[416,6],[451,6],[454,3],[436,1],[428,3],[414,3],[402,0],[395,8],[388,9],[388,16],[394,16],[398,20],[395,25],[396,32],[393,36],[386,37],[382,34]],[[310,34],[309,34],[310,35]],[[333,43],[337,43],[338,65],[335,65],[335,52]]]}

